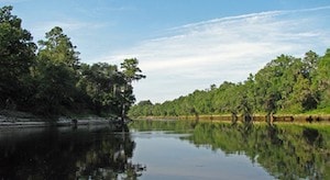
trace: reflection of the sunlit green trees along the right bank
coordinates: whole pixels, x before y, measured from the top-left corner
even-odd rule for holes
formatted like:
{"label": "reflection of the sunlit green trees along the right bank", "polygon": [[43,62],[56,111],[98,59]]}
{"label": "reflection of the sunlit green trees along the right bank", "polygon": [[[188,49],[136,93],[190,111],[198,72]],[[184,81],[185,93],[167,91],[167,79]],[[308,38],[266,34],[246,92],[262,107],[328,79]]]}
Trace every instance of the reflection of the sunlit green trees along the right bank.
{"label": "reflection of the sunlit green trees along the right bank", "polygon": [[[191,131],[189,122],[141,122],[142,130]],[[164,128],[162,128],[162,125]],[[299,125],[202,123],[183,137],[196,146],[244,154],[277,179],[329,179],[330,132]]]}

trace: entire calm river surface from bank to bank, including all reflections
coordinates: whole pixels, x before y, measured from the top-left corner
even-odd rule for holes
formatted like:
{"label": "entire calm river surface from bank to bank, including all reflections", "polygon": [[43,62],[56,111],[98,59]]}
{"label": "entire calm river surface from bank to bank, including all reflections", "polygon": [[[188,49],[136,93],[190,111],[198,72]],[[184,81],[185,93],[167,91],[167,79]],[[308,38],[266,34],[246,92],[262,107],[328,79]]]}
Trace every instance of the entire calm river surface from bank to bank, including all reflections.
{"label": "entire calm river surface from bank to bank, including all reflections", "polygon": [[0,179],[327,179],[326,127],[134,122],[0,128]]}

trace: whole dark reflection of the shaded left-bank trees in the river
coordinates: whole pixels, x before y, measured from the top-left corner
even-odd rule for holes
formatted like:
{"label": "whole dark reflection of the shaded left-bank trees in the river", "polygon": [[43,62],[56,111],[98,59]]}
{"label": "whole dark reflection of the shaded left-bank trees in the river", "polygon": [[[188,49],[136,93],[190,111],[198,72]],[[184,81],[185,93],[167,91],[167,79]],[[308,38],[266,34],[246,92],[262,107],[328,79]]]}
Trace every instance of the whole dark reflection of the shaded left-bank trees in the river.
{"label": "whole dark reflection of the shaded left-bank trees in the river", "polygon": [[134,147],[128,133],[105,128],[52,130],[1,140],[0,179],[136,179],[144,167],[130,161]]}

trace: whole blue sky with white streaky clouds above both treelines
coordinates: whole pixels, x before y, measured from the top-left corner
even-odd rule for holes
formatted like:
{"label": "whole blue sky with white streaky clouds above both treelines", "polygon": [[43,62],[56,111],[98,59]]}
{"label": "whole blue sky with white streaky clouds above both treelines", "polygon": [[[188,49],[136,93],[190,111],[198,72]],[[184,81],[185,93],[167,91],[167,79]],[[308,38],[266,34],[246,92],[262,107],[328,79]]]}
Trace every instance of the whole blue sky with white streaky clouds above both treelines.
{"label": "whole blue sky with white streaky clouds above both treelines", "polygon": [[61,26],[82,63],[136,57],[138,101],[239,82],[280,54],[330,48],[329,0],[0,0],[35,41]]}

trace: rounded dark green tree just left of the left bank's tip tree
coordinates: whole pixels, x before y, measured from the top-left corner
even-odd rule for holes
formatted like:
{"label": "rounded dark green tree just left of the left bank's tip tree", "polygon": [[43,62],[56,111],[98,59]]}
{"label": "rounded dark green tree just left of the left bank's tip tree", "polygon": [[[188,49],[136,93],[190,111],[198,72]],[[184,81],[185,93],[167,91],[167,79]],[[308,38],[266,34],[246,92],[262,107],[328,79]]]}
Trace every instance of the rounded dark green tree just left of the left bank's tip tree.
{"label": "rounded dark green tree just left of the left bank's tip tree", "polygon": [[[128,86],[122,72],[117,66],[105,63],[91,66],[82,64],[81,78],[77,87],[90,101],[90,106],[97,114],[121,113],[122,93],[120,88]],[[129,94],[131,95],[131,92]],[[133,98],[132,98],[133,99]]]}

